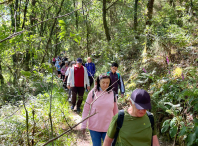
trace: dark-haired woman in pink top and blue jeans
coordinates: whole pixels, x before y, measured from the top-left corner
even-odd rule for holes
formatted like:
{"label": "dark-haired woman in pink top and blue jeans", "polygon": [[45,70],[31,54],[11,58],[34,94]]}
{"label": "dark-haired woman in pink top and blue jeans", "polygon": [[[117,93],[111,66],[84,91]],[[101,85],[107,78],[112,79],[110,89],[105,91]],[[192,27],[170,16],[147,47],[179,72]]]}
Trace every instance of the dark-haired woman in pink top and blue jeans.
{"label": "dark-haired woman in pink top and blue jeans", "polygon": [[111,119],[118,113],[118,106],[117,97],[112,90],[110,76],[106,73],[102,74],[97,77],[96,83],[96,88],[93,88],[89,92],[86,99],[82,119],[88,116],[90,104],[96,98],[97,100],[92,104],[90,115],[95,112],[97,112],[97,114],[85,120],[82,123],[81,129],[83,134],[85,134],[88,122],[88,129],[90,131],[93,146],[101,146],[101,139],[104,141]]}

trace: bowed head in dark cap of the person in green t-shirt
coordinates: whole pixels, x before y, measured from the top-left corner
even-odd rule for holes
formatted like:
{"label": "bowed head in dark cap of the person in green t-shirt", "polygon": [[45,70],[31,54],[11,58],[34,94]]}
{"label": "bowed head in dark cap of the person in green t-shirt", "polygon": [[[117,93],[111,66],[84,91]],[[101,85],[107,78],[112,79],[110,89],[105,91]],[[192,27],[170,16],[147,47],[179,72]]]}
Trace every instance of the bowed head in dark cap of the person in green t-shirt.
{"label": "bowed head in dark cap of the person in green t-shirt", "polygon": [[151,109],[150,95],[144,89],[136,89],[131,94],[130,104],[133,109],[133,115],[143,117],[146,114],[146,110]]}

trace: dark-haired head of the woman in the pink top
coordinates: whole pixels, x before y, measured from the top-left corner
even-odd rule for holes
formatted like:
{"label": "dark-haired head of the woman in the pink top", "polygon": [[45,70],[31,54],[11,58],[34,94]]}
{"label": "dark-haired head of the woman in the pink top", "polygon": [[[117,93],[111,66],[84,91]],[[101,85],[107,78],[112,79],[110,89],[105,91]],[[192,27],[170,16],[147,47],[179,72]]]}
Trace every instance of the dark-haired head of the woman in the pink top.
{"label": "dark-haired head of the woman in the pink top", "polygon": [[111,86],[111,78],[109,76],[109,74],[107,73],[104,73],[104,74],[101,74],[97,77],[96,79],[96,88],[98,91],[100,91],[100,88],[104,91],[110,91],[112,89]]}

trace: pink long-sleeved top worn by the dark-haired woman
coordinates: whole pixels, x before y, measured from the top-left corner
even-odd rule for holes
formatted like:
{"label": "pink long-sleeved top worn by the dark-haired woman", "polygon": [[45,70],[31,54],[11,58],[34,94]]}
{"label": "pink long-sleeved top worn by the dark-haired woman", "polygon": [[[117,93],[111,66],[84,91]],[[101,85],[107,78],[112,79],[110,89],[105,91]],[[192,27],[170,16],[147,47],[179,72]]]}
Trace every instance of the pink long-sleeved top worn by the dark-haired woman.
{"label": "pink long-sleeved top worn by the dark-haired woman", "polygon": [[[96,96],[101,95],[103,91],[96,91]],[[114,93],[111,91],[110,93],[105,92],[102,93],[103,95],[98,97],[98,99],[93,103],[90,115],[93,114],[95,111],[97,114],[90,117],[88,120],[85,120],[82,123],[81,129],[85,129],[87,127],[88,122],[88,129],[97,131],[97,132],[107,132],[109,128],[109,124],[115,114],[118,113],[118,106],[117,106],[117,98],[116,102],[114,102]],[[89,92],[86,102],[91,104],[93,101],[92,99],[93,89]],[[94,96],[94,99],[96,98]],[[83,113],[82,113],[82,120],[85,119],[89,114],[90,105],[85,103]]]}

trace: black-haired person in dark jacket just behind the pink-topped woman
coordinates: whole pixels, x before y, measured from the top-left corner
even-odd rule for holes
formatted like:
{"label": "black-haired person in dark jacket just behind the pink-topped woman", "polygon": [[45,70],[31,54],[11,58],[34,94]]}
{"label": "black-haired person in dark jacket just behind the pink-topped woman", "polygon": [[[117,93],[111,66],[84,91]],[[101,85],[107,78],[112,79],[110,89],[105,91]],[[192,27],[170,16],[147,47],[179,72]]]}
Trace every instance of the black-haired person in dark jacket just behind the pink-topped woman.
{"label": "black-haired person in dark jacket just behind the pink-topped woman", "polygon": [[117,70],[118,70],[118,64],[114,62],[111,65],[111,71],[108,73],[110,74],[111,81],[113,84],[113,91],[116,93],[116,96],[118,98],[118,86],[119,86],[121,92],[121,98],[122,98],[124,96],[125,87],[121,75],[116,72]]}

